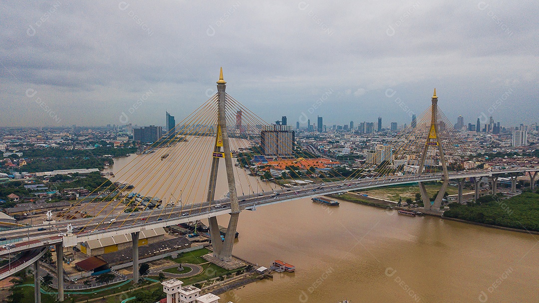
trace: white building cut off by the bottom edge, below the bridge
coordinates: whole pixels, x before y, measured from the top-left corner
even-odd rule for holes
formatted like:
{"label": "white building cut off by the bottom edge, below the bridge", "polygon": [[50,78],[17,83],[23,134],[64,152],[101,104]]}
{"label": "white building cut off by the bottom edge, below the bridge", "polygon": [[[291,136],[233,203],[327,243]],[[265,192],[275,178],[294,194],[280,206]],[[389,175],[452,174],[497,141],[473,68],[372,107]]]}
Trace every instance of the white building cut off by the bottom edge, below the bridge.
{"label": "white building cut off by the bottom edge, below the bridge", "polygon": [[[178,279],[163,281],[163,292],[167,294],[167,303],[219,303],[219,297],[212,293],[200,295],[200,288],[189,285],[182,287]],[[233,302],[229,302],[233,303]]]}

